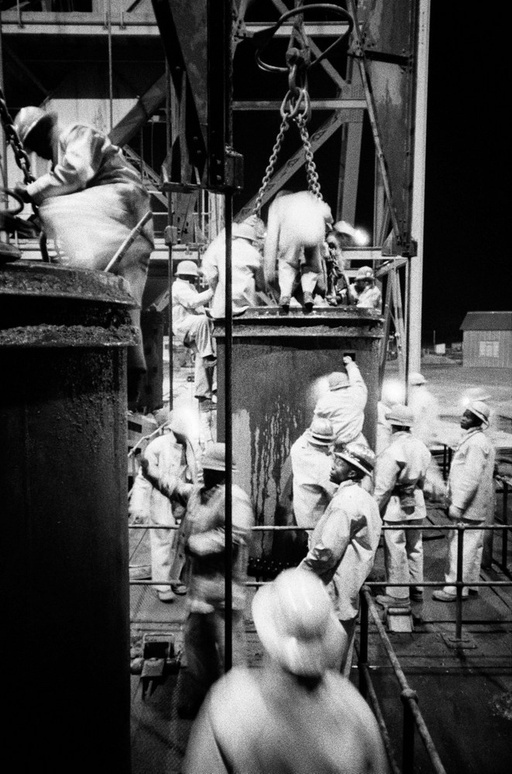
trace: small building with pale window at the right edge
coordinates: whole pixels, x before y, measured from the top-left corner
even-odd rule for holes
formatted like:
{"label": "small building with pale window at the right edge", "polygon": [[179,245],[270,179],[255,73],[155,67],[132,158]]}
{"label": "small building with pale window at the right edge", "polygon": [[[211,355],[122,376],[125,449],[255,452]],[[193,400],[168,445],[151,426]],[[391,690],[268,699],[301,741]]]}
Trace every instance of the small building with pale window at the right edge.
{"label": "small building with pale window at the right edge", "polygon": [[463,365],[512,368],[512,312],[468,312],[460,330]]}

